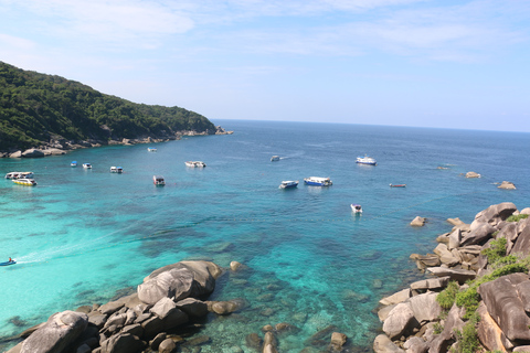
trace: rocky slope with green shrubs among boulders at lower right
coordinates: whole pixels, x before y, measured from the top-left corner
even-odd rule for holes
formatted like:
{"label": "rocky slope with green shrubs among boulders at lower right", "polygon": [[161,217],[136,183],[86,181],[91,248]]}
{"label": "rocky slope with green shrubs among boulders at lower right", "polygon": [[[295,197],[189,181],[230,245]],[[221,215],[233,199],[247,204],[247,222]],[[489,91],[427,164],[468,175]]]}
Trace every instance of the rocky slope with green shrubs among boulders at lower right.
{"label": "rocky slope with green shrubs among boulders at lower right", "polygon": [[447,220],[454,227],[437,238],[434,254],[411,255],[433,278],[380,301],[384,334],[373,350],[530,352],[529,213],[506,202],[471,224]]}

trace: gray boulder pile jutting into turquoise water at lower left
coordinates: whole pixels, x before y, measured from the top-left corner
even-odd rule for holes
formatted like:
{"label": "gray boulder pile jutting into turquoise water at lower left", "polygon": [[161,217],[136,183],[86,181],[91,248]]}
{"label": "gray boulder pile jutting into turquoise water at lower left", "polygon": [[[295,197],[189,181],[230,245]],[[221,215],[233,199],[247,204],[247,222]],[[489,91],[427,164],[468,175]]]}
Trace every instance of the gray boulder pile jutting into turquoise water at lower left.
{"label": "gray boulder pile jutting into turquoise water at lower left", "polygon": [[155,270],[137,292],[103,306],[54,313],[24,333],[9,353],[171,352],[176,329],[193,328],[209,311],[222,269],[210,261],[180,261]]}

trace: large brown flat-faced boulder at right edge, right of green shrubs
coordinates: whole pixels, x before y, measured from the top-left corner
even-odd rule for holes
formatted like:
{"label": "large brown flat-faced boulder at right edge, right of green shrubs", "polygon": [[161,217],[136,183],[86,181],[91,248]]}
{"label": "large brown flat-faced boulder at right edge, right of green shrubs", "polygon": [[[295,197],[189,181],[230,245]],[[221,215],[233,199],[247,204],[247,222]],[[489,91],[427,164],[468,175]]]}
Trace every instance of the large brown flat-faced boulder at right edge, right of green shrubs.
{"label": "large brown flat-faced boulder at right edge, right of green shrubs", "polygon": [[518,285],[528,281],[528,275],[512,274],[480,285],[489,314],[510,341],[530,341],[530,319],[518,292]]}

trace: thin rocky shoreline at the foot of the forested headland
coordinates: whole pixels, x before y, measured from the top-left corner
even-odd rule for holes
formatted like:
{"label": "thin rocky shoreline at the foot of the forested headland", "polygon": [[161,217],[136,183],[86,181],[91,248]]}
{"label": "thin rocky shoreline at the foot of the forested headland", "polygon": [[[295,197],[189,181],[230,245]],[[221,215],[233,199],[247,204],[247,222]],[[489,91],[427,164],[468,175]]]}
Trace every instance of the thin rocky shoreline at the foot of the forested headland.
{"label": "thin rocky shoreline at the foot of the forested headland", "polygon": [[126,138],[109,138],[108,140],[83,140],[83,141],[73,141],[66,140],[61,137],[51,138],[50,141],[43,142],[41,146],[35,148],[30,148],[25,150],[9,150],[0,151],[0,158],[41,158],[47,156],[60,156],[66,154],[68,151],[81,149],[81,148],[91,148],[91,147],[102,147],[102,146],[113,146],[113,145],[139,145],[139,143],[157,143],[157,142],[167,142],[172,140],[180,140],[186,136],[208,136],[208,135],[232,135],[234,131],[226,131],[221,126],[215,127],[215,131],[179,131],[174,135],[157,136],[157,137],[138,137],[136,139],[126,139]]}

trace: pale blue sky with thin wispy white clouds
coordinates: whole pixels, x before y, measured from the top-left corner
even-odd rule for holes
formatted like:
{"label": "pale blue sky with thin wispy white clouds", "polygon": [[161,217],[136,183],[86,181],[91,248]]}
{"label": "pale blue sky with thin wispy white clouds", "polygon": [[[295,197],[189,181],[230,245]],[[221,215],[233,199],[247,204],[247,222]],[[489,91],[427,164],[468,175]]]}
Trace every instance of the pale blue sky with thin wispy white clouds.
{"label": "pale blue sky with thin wispy white clouds", "polygon": [[529,0],[0,0],[0,61],[213,122],[530,132]]}

